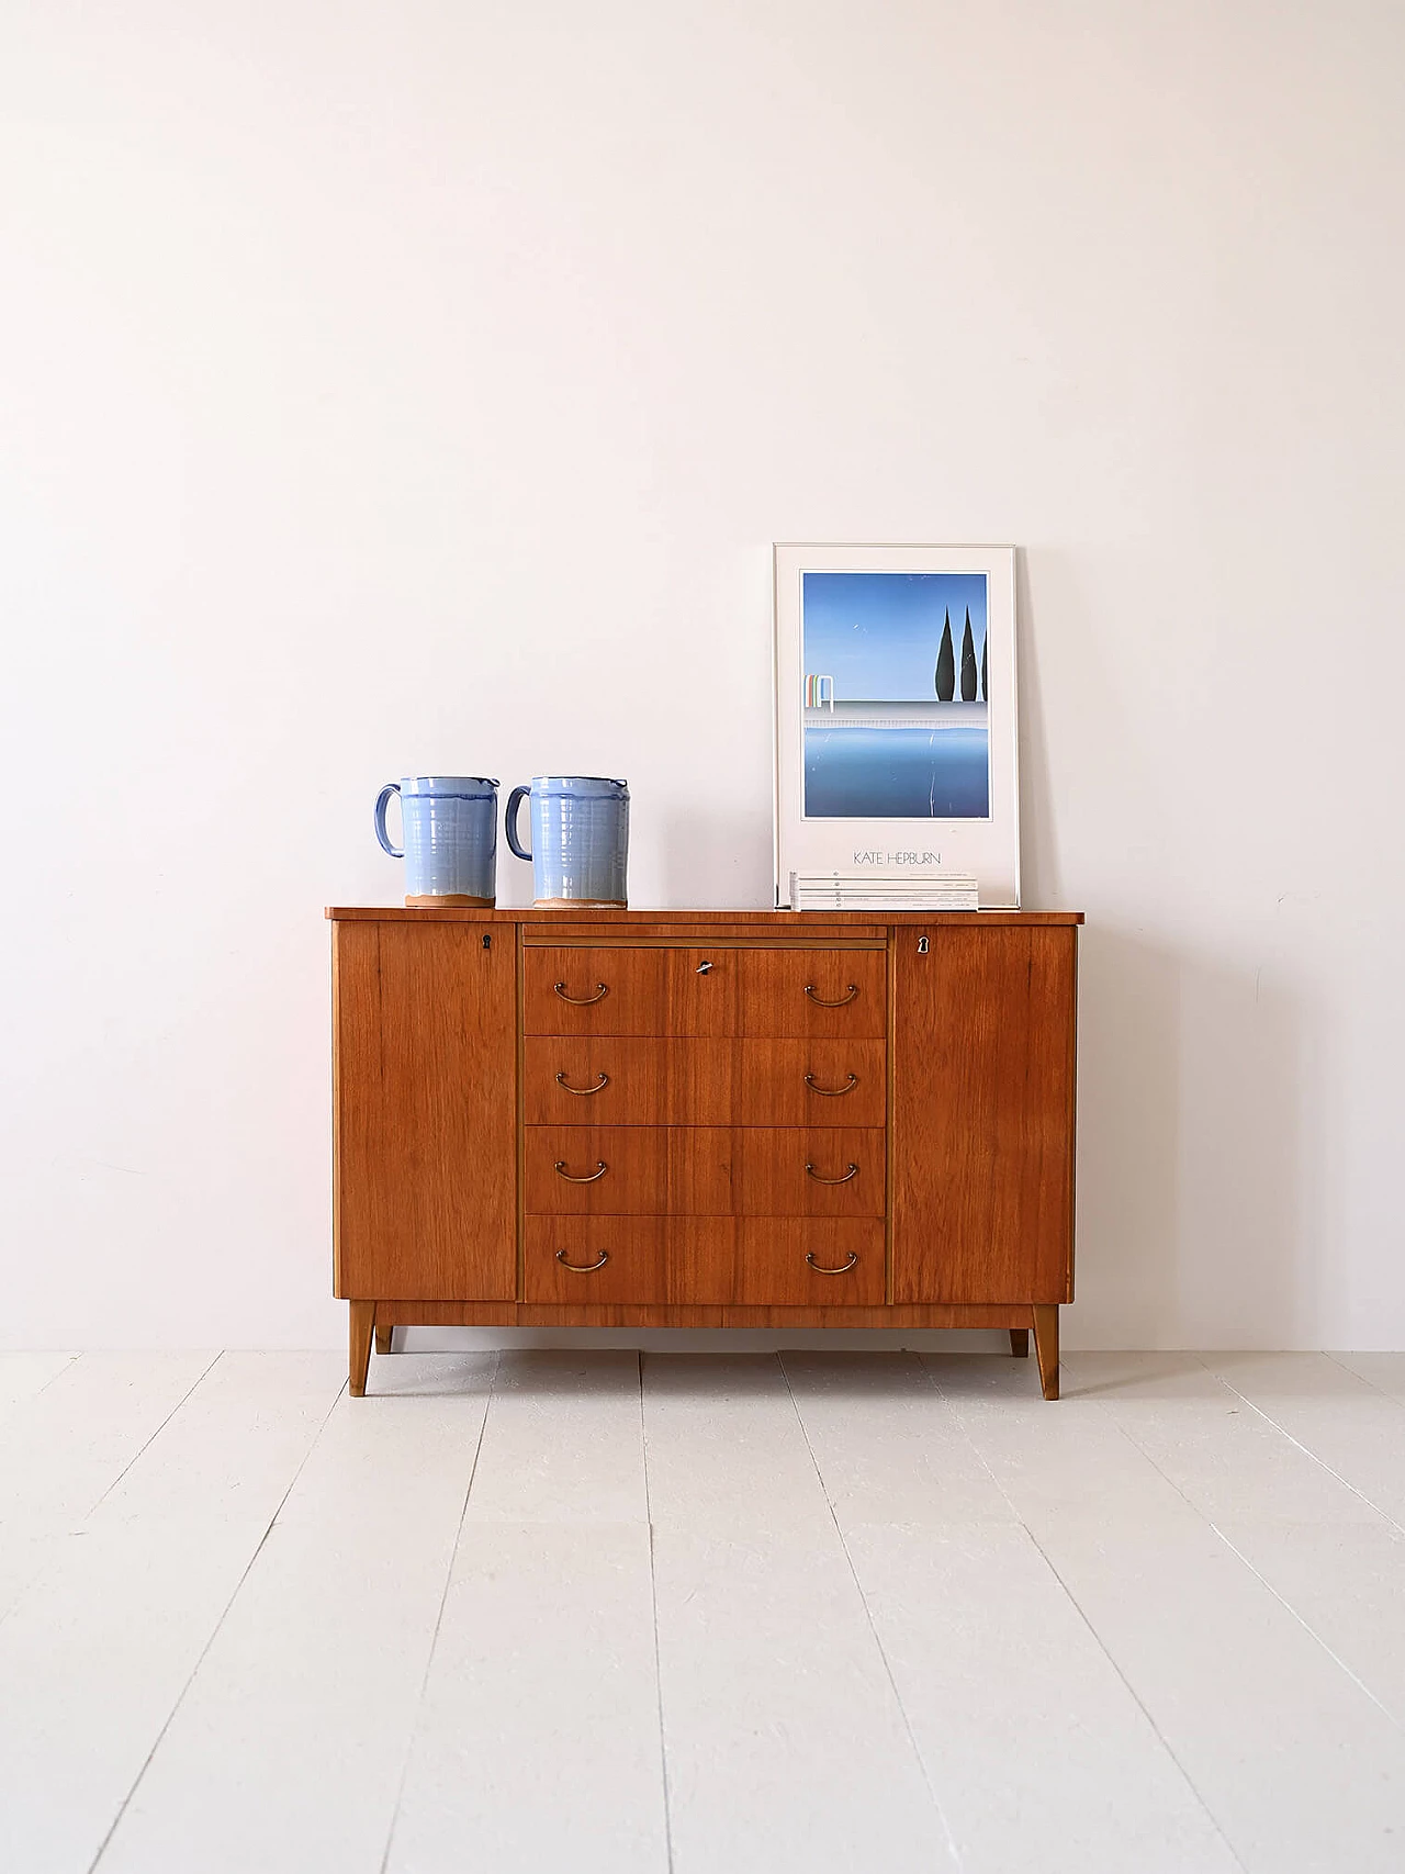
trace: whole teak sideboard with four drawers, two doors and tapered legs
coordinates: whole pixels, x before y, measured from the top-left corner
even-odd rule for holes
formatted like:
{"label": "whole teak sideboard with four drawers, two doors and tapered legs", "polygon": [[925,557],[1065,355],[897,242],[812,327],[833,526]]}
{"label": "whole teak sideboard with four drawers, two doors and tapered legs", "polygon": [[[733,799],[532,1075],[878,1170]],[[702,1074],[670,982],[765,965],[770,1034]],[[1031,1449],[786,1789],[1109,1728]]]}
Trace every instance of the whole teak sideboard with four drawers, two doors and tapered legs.
{"label": "whole teak sideboard with four drawers, two doors and tapered legs", "polygon": [[328,916],[354,1394],[414,1323],[1032,1329],[1058,1396],[1079,915]]}

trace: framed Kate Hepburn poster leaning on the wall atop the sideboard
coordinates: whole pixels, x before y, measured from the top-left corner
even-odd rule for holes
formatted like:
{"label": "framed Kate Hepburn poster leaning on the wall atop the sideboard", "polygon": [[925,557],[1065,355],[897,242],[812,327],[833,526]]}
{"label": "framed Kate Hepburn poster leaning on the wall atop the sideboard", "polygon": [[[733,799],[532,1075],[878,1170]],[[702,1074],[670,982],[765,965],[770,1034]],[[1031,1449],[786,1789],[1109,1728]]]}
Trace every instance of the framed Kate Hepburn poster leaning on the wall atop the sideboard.
{"label": "framed Kate Hepburn poster leaning on the wall atop the sideboard", "polygon": [[869,868],[1019,905],[1013,547],[776,547],[776,903]]}

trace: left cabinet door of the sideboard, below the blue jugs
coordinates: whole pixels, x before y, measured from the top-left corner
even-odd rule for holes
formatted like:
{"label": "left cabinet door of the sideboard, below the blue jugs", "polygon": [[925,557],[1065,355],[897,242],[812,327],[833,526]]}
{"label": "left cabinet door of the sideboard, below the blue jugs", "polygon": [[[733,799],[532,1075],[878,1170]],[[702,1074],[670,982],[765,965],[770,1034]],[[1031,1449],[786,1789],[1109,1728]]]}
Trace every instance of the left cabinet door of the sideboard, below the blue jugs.
{"label": "left cabinet door of the sideboard, below the blue jugs", "polygon": [[335,1293],[511,1301],[511,926],[333,924],[333,1001]]}

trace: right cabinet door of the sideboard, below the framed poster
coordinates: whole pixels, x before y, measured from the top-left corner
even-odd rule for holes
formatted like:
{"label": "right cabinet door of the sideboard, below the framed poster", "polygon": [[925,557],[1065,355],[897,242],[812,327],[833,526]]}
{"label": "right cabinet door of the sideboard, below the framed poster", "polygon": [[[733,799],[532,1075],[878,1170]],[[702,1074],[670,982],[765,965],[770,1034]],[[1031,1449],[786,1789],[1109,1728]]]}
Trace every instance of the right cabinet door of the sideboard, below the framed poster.
{"label": "right cabinet door of the sideboard, below the framed poster", "polygon": [[1072,1299],[1075,931],[899,930],[894,1301]]}

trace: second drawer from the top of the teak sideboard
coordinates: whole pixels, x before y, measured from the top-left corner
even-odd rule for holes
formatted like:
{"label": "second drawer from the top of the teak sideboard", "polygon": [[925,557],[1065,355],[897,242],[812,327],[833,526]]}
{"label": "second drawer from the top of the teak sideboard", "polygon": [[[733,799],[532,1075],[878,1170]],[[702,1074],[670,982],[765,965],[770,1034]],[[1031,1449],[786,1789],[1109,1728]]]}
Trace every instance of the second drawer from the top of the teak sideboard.
{"label": "second drawer from the top of the teak sideboard", "polygon": [[882,1126],[880,1040],[530,1034],[528,1126]]}

